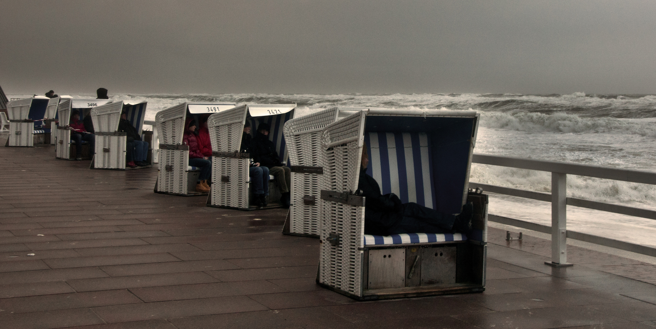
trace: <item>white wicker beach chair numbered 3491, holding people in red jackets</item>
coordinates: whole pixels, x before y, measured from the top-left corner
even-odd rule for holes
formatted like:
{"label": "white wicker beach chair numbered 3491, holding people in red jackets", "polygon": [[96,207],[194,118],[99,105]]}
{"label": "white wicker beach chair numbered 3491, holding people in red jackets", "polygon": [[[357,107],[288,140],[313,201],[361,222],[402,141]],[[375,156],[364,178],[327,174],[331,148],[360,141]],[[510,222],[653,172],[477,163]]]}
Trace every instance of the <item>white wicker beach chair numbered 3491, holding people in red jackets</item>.
{"label": "white wicker beach chair numbered 3491, holding people in red jackets", "polygon": [[235,105],[230,102],[186,102],[157,112],[155,124],[159,152],[155,193],[207,195],[207,192],[195,191],[200,170],[189,165],[189,147],[182,144],[184,123],[188,116],[199,117],[231,109]]}

